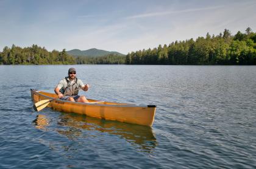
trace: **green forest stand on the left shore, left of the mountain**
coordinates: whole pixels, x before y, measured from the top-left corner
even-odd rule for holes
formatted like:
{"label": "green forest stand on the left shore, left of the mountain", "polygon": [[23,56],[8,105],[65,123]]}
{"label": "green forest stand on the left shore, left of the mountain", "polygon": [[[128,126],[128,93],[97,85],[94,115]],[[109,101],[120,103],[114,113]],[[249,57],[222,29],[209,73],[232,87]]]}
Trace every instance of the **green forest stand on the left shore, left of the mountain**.
{"label": "green forest stand on the left shore, left of the mountain", "polygon": [[44,47],[4,47],[0,52],[0,64],[76,64],[75,59],[66,53],[52,50],[48,52]]}

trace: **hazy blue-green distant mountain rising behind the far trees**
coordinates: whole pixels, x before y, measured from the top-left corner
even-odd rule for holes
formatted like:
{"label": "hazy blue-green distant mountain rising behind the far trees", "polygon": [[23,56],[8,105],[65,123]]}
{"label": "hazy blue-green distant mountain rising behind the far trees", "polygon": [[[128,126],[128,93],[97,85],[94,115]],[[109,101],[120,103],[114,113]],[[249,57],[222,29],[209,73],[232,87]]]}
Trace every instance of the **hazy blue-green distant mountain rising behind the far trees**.
{"label": "hazy blue-green distant mountain rising behind the far trees", "polygon": [[73,50],[68,50],[66,51],[69,55],[73,55],[74,57],[102,57],[105,55],[110,55],[110,54],[115,54],[115,55],[120,55],[124,56],[124,54],[119,53],[119,52],[109,52],[106,50],[100,50],[100,49],[88,49],[88,50],[79,50],[79,49],[73,49]]}

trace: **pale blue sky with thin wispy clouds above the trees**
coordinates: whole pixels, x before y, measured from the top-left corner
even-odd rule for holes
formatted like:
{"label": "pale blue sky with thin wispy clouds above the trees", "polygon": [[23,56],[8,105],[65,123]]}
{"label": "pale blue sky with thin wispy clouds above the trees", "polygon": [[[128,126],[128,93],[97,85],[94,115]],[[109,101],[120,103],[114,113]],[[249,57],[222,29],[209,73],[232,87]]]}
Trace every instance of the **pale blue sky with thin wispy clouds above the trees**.
{"label": "pale blue sky with thin wispy clouds above the trees", "polygon": [[37,44],[127,54],[224,29],[256,32],[255,9],[255,0],[0,0],[0,51]]}

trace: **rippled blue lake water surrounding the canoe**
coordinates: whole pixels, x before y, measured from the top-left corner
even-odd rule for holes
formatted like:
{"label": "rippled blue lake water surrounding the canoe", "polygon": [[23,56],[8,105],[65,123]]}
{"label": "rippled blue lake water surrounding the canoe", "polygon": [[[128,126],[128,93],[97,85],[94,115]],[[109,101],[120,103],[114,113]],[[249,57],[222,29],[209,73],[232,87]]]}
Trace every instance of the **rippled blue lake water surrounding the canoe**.
{"label": "rippled blue lake water surrounding the canoe", "polygon": [[0,66],[0,168],[256,168],[256,66],[72,66],[88,98],[157,105],[152,127],[35,112],[69,67]]}

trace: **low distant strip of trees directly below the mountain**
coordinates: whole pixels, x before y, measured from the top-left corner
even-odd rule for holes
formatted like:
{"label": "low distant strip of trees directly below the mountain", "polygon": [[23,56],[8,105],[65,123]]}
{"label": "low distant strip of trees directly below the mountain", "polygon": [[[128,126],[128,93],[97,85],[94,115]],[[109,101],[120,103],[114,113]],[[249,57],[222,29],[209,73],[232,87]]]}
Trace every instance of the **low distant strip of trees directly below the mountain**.
{"label": "low distant strip of trees directly below the mountain", "polygon": [[126,64],[126,57],[116,54],[103,57],[77,57],[77,64]]}

